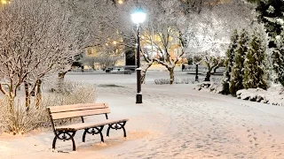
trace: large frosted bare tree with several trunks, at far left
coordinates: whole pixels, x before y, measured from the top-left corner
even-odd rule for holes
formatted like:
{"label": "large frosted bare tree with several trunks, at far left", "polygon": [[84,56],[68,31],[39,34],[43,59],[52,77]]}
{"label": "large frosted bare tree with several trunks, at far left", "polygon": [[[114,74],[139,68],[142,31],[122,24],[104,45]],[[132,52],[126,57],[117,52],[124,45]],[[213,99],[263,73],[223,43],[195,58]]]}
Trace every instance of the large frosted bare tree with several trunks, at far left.
{"label": "large frosted bare tree with several trunks, at far left", "polygon": [[72,62],[78,50],[79,24],[70,23],[58,2],[13,1],[0,12],[1,92],[11,110],[18,87],[25,83],[26,106],[31,95],[41,98],[41,80]]}

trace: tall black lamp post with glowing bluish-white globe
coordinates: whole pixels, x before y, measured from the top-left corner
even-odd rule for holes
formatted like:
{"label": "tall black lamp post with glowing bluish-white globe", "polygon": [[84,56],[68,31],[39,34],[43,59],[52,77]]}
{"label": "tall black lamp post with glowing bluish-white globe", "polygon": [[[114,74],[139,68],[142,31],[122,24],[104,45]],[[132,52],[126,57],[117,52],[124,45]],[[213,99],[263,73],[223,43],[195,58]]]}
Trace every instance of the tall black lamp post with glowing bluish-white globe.
{"label": "tall black lamp post with glowing bluish-white globe", "polygon": [[141,92],[141,67],[140,67],[140,24],[143,23],[146,19],[146,12],[139,7],[131,14],[131,19],[133,23],[135,23],[138,27],[137,30],[137,95],[136,95],[136,103],[142,103],[142,92]]}

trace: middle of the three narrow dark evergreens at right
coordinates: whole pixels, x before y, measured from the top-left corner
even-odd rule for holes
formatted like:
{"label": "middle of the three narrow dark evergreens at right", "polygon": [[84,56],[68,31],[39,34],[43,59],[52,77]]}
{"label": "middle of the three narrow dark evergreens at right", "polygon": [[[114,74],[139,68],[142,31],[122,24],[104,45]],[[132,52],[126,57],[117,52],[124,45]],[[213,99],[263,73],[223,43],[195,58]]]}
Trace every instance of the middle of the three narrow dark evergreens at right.
{"label": "middle of the three narrow dark evergreens at right", "polygon": [[248,32],[243,29],[240,35],[240,41],[236,51],[236,56],[233,63],[233,71],[231,72],[230,93],[236,95],[238,90],[243,89],[244,78],[244,60],[248,52]]}

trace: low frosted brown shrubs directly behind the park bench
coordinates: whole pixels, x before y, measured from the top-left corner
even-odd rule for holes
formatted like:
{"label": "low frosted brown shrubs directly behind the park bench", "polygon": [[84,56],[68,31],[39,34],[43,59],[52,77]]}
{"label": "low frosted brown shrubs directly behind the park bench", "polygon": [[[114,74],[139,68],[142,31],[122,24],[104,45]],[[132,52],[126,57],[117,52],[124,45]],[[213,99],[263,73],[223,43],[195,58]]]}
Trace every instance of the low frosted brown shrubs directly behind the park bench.
{"label": "low frosted brown shrubs directly behind the park bench", "polygon": [[[27,111],[23,103],[14,104],[13,111],[9,109],[8,100],[0,102],[0,133],[26,133],[39,127],[49,127],[51,125],[46,107],[54,105],[66,105],[74,103],[95,102],[97,99],[97,90],[94,85],[69,83],[67,92],[56,93],[51,92],[43,95],[43,100],[36,107],[36,101],[31,102]],[[58,124],[62,125],[66,122],[74,122],[74,120],[59,120]]]}

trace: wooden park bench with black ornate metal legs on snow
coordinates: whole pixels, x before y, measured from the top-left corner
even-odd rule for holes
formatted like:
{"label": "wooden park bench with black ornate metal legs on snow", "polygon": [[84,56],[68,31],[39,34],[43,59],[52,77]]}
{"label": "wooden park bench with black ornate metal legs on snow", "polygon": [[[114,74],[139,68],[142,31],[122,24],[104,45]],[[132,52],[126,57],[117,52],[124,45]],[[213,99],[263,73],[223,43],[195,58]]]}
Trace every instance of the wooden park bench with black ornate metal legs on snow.
{"label": "wooden park bench with black ornate metal legs on snow", "polygon": [[[53,128],[53,133],[55,135],[52,148],[55,149],[56,140],[72,140],[73,151],[75,151],[75,140],[74,136],[78,130],[84,130],[83,132],[83,142],[85,142],[86,134],[100,134],[100,140],[104,142],[104,137],[102,130],[105,125],[108,125],[106,130],[106,136],[109,136],[110,129],[122,129],[124,137],[126,137],[126,132],[124,125],[128,121],[127,118],[118,120],[109,120],[107,114],[110,113],[110,109],[107,103],[78,103],[72,105],[62,105],[62,106],[51,106],[47,108],[49,115],[51,117],[51,126]],[[105,114],[106,119],[103,121],[94,122],[84,122],[86,116],[95,116]],[[81,117],[82,123],[70,124],[70,125],[56,125],[56,121],[60,119]]]}

